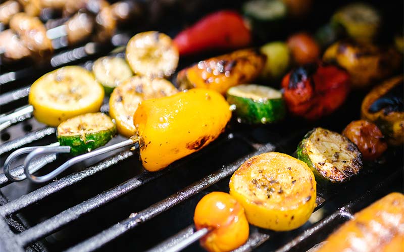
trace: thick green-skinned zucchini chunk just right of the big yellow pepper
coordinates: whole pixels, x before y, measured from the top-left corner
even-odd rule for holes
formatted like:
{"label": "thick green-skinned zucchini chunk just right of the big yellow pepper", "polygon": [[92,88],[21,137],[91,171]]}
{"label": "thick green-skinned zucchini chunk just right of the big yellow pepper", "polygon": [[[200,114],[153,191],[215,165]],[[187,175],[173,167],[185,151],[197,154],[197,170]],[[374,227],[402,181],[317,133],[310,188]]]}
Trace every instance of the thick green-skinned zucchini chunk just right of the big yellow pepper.
{"label": "thick green-skinned zucchini chunk just right of the big yellow pepper", "polygon": [[249,124],[266,124],[285,117],[282,93],[259,85],[238,85],[227,90],[227,102],[235,105],[237,120]]}

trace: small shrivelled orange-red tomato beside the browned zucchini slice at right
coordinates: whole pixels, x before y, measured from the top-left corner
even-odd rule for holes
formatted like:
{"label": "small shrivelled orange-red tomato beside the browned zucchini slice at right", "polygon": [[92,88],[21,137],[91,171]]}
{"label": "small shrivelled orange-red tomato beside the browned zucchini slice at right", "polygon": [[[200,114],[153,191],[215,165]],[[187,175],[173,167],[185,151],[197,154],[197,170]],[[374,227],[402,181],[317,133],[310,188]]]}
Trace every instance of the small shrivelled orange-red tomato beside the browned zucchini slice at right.
{"label": "small shrivelled orange-red tomato beside the browned zucchini slice at right", "polygon": [[353,121],[346,126],[342,134],[358,146],[364,160],[375,160],[387,149],[380,129],[368,121]]}

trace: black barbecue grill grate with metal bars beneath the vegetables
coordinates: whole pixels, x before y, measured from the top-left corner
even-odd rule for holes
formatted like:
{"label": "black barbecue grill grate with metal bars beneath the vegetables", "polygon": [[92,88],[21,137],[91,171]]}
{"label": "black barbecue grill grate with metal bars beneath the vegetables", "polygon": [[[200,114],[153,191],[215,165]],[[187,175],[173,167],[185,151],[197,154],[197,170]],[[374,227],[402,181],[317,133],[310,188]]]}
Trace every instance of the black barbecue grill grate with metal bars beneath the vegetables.
{"label": "black barbecue grill grate with metal bars beneath the vegetables", "polygon": [[[107,55],[115,46],[126,44],[137,31],[158,29],[173,35],[185,20],[192,22],[206,12],[222,7],[237,8],[240,4],[238,1],[230,5],[226,1],[215,3],[211,7],[204,4],[204,8],[195,4],[194,11],[188,15],[164,14],[172,22],[155,22],[138,27],[139,30],[120,32],[110,44],[89,42],[60,51],[39,69],[26,63],[1,65],[1,113],[26,105],[29,84],[51,69],[73,64],[90,69],[93,60]],[[288,25],[291,30],[316,28],[336,5],[342,4],[315,3],[313,13],[319,13],[315,20],[305,20],[298,27],[293,22]],[[383,11],[398,15],[388,18],[400,20],[400,23],[396,21],[397,26],[402,27],[403,3],[384,4]],[[276,36],[282,38],[284,34],[287,33]],[[119,51],[112,54],[123,55]],[[211,55],[203,58],[207,56]],[[203,58],[181,59],[178,69]],[[211,191],[228,191],[230,176],[252,156],[273,150],[292,155],[301,138],[315,126],[340,132],[360,117],[364,95],[360,91],[351,92],[338,111],[316,123],[287,118],[276,125],[251,127],[233,120],[209,146],[159,172],[145,171],[131,150],[117,150],[75,165],[47,184],[27,180],[12,183],[0,174],[0,251],[168,251],[185,243],[190,243],[187,251],[203,251],[198,242],[192,243],[190,239],[195,232],[193,211],[201,197]],[[108,105],[108,99],[105,104]],[[102,109],[106,111],[108,106]],[[29,117],[23,111],[12,126],[0,132],[2,165],[14,149],[55,142],[55,128],[46,127],[34,118],[26,120]],[[118,136],[108,145],[123,139]],[[402,148],[390,149],[383,160],[366,164],[364,171],[347,183],[319,186],[317,208],[310,220],[296,230],[274,232],[251,226],[247,242],[236,251],[307,251],[316,246],[373,201],[389,192],[403,191],[402,153]],[[52,160],[54,156],[46,158]],[[38,174],[52,170],[66,159],[58,159]],[[12,173],[23,174],[22,166],[14,168]]]}

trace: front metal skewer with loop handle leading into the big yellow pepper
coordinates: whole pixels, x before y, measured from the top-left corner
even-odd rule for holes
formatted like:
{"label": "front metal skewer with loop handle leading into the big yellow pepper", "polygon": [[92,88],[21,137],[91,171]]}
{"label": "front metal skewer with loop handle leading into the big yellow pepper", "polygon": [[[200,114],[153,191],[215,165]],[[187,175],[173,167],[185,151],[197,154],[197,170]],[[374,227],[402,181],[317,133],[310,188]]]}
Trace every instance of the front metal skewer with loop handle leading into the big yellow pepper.
{"label": "front metal skewer with loop handle leading into the big yellow pepper", "polygon": [[[67,148],[63,149],[63,147],[69,148],[69,151],[67,151]],[[134,149],[136,149],[136,148],[139,147],[138,140],[137,139],[128,139],[128,140],[125,140],[123,142],[111,145],[111,146],[98,148],[96,150],[93,150],[92,152],[82,154],[80,156],[74,157],[74,158],[66,161],[63,165],[59,166],[58,168],[56,168],[52,172],[49,172],[48,174],[45,174],[43,176],[35,176],[30,172],[30,169],[29,169],[32,160],[35,159],[39,155],[43,155],[43,154],[47,154],[47,153],[55,153],[55,150],[56,150],[55,148],[54,149],[49,149],[49,148],[46,148],[46,147],[40,147],[40,148],[37,148],[36,150],[34,150],[31,154],[29,154],[27,156],[27,158],[25,159],[24,172],[25,172],[25,175],[27,176],[27,178],[30,179],[31,181],[35,182],[35,183],[46,182],[48,180],[52,180],[53,178],[58,176],[60,173],[62,173],[63,171],[65,171],[69,167],[71,167],[71,166],[73,166],[73,165],[75,165],[75,164],[77,164],[79,162],[82,162],[84,160],[87,160],[87,159],[90,159],[90,158],[93,158],[93,157],[96,157],[96,156],[99,156],[99,155],[109,153],[112,150],[120,149],[120,148],[123,148],[123,147],[134,147]],[[70,146],[59,146],[57,148],[58,148],[58,153],[70,152]]]}

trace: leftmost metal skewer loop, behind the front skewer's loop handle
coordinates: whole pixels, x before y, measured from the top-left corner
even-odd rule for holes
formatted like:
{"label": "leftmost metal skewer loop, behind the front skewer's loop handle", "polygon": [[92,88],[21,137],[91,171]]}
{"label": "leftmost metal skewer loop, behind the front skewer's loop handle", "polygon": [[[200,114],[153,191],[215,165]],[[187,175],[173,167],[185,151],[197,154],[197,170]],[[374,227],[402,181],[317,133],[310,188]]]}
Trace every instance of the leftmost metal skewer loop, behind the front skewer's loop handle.
{"label": "leftmost metal skewer loop, behind the front skewer's loop handle", "polygon": [[[21,155],[25,155],[27,153],[31,153],[34,150],[38,149],[38,148],[51,148],[54,149],[55,147],[59,146],[60,143],[59,142],[55,142],[46,146],[31,146],[31,147],[24,147],[24,148],[20,148],[17,149],[15,152],[13,152],[12,154],[10,154],[10,156],[6,159],[6,161],[4,162],[4,167],[3,167],[3,171],[4,171],[4,175],[6,175],[6,177],[10,180],[10,181],[21,181],[26,179],[26,176],[24,174],[21,174],[19,176],[15,176],[13,174],[10,173],[10,166],[13,163],[13,161],[18,158]],[[56,160],[56,155],[48,155],[45,158],[42,158],[40,160],[36,160],[34,161],[32,168],[30,169],[30,172],[36,172],[39,169],[41,169],[42,167],[44,167],[46,164],[48,163],[52,163],[53,161]]]}

